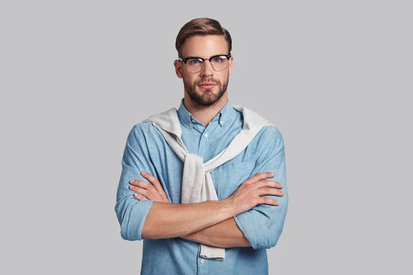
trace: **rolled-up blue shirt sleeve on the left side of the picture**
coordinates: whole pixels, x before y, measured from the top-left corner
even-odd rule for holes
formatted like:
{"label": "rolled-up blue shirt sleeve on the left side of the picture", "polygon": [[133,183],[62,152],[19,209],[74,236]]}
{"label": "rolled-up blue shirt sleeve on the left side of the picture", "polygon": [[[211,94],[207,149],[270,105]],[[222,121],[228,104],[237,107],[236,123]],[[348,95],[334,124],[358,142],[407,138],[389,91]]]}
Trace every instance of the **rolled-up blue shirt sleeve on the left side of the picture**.
{"label": "rolled-up blue shirt sleeve on the left side of the picture", "polygon": [[115,212],[120,223],[120,235],[128,241],[142,240],[143,223],[153,204],[151,200],[139,201],[134,197],[134,191],[129,189],[131,179],[149,182],[140,175],[140,172],[145,171],[155,175],[155,169],[149,157],[147,137],[145,137],[145,130],[149,130],[147,127],[151,125],[149,123],[136,124],[129,132],[116,193]]}

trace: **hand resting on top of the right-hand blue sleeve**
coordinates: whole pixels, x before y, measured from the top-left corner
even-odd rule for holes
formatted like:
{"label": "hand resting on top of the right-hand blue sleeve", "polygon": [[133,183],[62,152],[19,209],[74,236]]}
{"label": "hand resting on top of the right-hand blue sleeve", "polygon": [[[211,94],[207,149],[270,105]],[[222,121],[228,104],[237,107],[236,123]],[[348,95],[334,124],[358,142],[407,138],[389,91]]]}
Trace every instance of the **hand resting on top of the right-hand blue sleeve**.
{"label": "hand resting on top of the right-hand blue sleeve", "polygon": [[[244,181],[240,187],[229,197],[230,203],[235,206],[237,214],[246,212],[257,204],[269,204],[279,206],[279,202],[269,197],[261,197],[265,195],[273,195],[282,197],[284,192],[277,189],[282,189],[282,184],[277,181],[267,180],[266,178],[274,177],[273,173],[257,173],[253,177]],[[277,188],[277,189],[274,189]]]}

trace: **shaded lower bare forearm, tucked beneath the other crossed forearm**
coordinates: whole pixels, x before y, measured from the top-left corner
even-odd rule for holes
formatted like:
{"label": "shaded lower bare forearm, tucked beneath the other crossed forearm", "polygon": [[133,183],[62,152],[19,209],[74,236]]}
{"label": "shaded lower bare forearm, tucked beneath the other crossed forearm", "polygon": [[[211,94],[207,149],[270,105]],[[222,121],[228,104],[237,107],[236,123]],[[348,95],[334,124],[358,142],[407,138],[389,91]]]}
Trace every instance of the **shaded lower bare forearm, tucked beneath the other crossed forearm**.
{"label": "shaded lower bare forearm, tucked beneath the other crossed forearm", "polygon": [[251,246],[233,218],[226,219],[187,236],[182,236],[182,238],[218,248]]}

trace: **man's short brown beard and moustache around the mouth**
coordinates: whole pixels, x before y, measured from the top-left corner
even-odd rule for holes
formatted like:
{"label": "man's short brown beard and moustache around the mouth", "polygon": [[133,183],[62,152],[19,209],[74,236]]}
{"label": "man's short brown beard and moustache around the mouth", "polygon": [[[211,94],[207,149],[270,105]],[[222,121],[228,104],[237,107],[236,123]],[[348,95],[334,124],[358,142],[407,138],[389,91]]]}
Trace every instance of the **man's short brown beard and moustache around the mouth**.
{"label": "man's short brown beard and moustache around the mouth", "polygon": [[[214,105],[225,94],[226,88],[228,87],[229,76],[226,76],[226,81],[224,81],[224,83],[221,83],[220,80],[204,79],[196,81],[191,85],[190,83],[187,83],[187,81],[185,81],[185,78],[182,77],[182,79],[184,81],[184,89],[187,92],[189,98],[191,98],[194,107],[207,107]],[[215,83],[217,86],[213,87],[212,89],[202,89],[198,85],[203,82]],[[218,94],[214,94],[212,91],[216,88],[218,88]],[[199,89],[200,92],[197,93],[196,89]]]}

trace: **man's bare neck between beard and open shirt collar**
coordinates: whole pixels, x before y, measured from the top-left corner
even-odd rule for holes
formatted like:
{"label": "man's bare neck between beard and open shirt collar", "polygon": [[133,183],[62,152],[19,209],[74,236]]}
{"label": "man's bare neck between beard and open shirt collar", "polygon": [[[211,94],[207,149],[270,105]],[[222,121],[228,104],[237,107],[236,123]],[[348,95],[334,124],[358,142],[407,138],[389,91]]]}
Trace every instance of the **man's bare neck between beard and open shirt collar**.
{"label": "man's bare neck between beard and open shirt collar", "polygon": [[187,94],[185,93],[184,106],[185,108],[187,108],[189,113],[191,113],[193,118],[207,127],[209,122],[211,122],[211,120],[213,120],[213,118],[215,118],[215,116],[220,113],[222,108],[224,108],[226,102],[228,102],[228,97],[226,96],[226,94],[227,93],[225,92],[222,98],[220,98],[220,100],[218,100],[211,106],[200,106],[196,102],[193,102],[191,98],[189,98],[189,96],[187,96]]}

